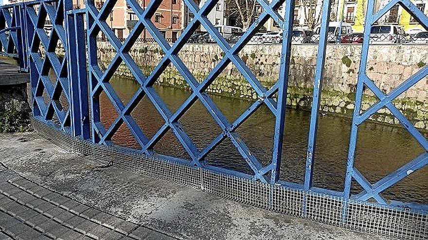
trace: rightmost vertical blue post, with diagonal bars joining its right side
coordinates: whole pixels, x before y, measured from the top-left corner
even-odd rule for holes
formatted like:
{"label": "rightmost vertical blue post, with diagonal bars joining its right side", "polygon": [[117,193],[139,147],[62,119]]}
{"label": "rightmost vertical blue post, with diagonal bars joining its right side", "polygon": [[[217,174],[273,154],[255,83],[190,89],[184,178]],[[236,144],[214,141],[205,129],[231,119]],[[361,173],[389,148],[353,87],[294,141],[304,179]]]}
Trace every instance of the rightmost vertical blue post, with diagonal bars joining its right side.
{"label": "rightmost vertical blue post, with diagonal bars joining its right side", "polygon": [[[351,182],[352,182],[352,175],[354,172],[354,157],[355,157],[355,149],[357,146],[357,135],[358,135],[357,118],[359,116],[360,109],[361,109],[364,80],[366,76],[367,58],[369,54],[370,30],[372,28],[371,22],[372,22],[374,8],[375,8],[375,0],[368,0],[366,20],[364,25],[364,42],[361,49],[361,61],[359,64],[357,91],[355,95],[355,108],[354,108],[354,115],[352,117],[348,160],[346,163],[347,165],[346,165],[345,186],[344,186],[344,192],[343,192],[345,201],[349,200],[350,194],[351,194]],[[344,206],[344,209],[342,212],[343,220],[345,219],[346,208],[347,206]]]}

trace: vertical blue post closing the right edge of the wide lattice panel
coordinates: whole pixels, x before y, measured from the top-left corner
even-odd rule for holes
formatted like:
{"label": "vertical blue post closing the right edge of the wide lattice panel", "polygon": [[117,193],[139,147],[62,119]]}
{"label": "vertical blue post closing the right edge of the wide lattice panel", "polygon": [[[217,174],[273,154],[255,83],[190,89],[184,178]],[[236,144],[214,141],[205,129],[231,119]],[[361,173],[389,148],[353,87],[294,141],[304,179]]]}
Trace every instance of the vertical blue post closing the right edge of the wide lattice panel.
{"label": "vertical blue post closing the right edge of the wide lattice panel", "polygon": [[283,46],[281,52],[281,65],[278,80],[278,102],[275,118],[275,136],[273,142],[272,172],[270,183],[275,184],[279,179],[281,155],[284,141],[285,110],[287,101],[287,86],[291,58],[291,38],[294,20],[294,1],[285,2],[285,16],[283,29]]}

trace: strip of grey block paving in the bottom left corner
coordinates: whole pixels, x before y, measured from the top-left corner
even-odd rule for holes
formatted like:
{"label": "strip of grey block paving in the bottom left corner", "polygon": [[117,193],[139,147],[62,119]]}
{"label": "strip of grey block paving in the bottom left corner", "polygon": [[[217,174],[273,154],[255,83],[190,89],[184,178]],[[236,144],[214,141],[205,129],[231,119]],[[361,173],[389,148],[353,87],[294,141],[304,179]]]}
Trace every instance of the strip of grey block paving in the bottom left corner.
{"label": "strip of grey block paving in the bottom left corner", "polygon": [[[3,169],[2,169],[3,168]],[[0,165],[0,171],[9,171]],[[175,240],[21,176],[0,181],[0,240]]]}

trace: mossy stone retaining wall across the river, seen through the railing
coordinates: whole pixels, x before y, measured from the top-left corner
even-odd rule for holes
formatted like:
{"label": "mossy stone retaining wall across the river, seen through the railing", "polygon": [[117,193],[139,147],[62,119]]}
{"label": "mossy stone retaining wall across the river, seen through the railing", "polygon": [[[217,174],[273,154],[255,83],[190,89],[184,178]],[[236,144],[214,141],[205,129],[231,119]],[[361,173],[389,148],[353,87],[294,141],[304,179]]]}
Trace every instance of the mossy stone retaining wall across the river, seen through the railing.
{"label": "mossy stone retaining wall across the river, seen through the railing", "polygon": [[[109,43],[98,43],[100,67],[107,68],[116,52]],[[288,83],[287,104],[294,108],[310,109],[313,79],[316,64],[317,45],[295,45],[292,48],[290,80]],[[321,110],[351,115],[354,108],[355,86],[361,53],[360,45],[329,45],[326,54],[326,68],[321,95]],[[249,45],[239,56],[265,87],[270,87],[278,79],[281,45]],[[137,43],[130,55],[145,75],[150,74],[164,53],[156,44]],[[187,44],[179,51],[179,57],[202,81],[223,58],[223,51],[215,44]],[[401,82],[416,73],[428,62],[428,46],[388,45],[371,46],[368,76],[385,93],[389,93]],[[115,73],[117,76],[132,77],[125,64]],[[189,87],[171,64],[156,81],[157,84],[183,89]],[[255,99],[250,84],[233,64],[229,64],[208,88],[208,93],[243,99]],[[362,109],[366,110],[378,99],[365,90]],[[418,128],[428,129],[428,80],[399,96],[395,105]],[[380,110],[372,120],[398,124],[388,110]]]}

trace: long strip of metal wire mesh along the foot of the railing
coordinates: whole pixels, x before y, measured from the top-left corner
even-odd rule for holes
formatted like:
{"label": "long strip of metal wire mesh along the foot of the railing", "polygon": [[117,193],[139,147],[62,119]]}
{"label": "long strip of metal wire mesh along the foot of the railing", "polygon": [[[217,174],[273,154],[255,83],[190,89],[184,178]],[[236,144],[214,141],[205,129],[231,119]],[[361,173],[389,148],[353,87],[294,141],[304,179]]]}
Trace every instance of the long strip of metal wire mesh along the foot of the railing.
{"label": "long strip of metal wire mesh along the foot of the railing", "polygon": [[[32,123],[41,136],[76,155],[90,156],[94,161],[134,173],[323,224],[404,240],[428,239],[426,213],[261,183],[118,147],[92,144],[34,118]],[[343,216],[346,216],[345,221]]]}

